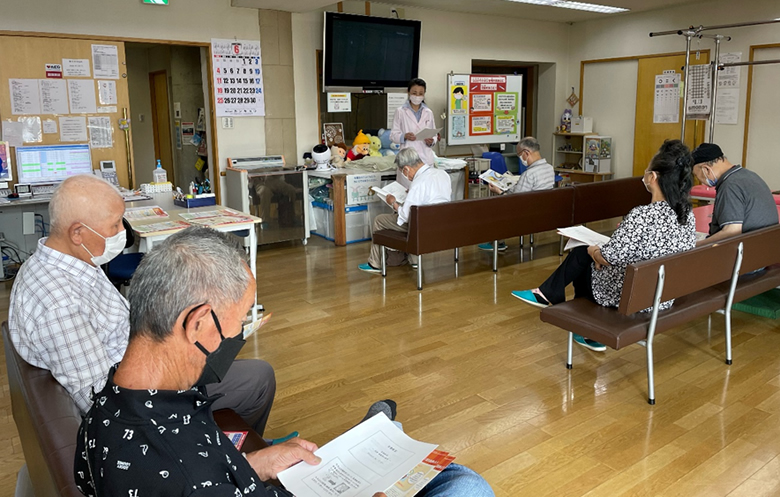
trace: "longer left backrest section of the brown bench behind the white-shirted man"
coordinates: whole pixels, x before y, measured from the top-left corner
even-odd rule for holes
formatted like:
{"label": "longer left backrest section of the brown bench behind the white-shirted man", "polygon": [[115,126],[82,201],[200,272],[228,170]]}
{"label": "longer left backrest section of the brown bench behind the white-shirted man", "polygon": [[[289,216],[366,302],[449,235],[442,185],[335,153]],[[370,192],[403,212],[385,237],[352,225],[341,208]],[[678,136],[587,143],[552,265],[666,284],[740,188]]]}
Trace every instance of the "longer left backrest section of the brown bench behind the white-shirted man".
{"label": "longer left backrest section of the brown bench behind the white-shirted man", "polygon": [[413,206],[408,246],[424,254],[570,226],[573,198],[572,188],[558,188]]}

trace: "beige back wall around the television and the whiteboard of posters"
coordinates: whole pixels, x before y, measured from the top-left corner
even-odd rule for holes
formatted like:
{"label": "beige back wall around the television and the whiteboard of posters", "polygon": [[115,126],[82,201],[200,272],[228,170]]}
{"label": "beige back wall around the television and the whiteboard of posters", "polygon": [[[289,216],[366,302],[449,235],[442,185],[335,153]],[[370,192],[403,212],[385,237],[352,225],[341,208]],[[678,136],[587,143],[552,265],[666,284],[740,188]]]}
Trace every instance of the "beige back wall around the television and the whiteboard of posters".
{"label": "beige back wall around the television and the whiteboard of posters", "polygon": [[[391,4],[371,4],[371,14],[391,17]],[[335,10],[335,6],[328,10]],[[552,151],[552,132],[568,96],[569,26],[528,22],[517,18],[461,14],[404,7],[407,19],[422,21],[420,77],[428,83],[426,102],[437,125],[446,104],[446,75],[471,71],[472,59],[552,63],[540,77],[539,140],[545,153]],[[344,2],[344,11],[365,13],[365,2]],[[319,142],[315,52],[322,48],[322,11],[293,14],[293,60],[298,122],[298,155]],[[542,85],[544,81],[544,85]],[[571,85],[568,85],[571,86]],[[385,123],[377,123],[376,127]]]}

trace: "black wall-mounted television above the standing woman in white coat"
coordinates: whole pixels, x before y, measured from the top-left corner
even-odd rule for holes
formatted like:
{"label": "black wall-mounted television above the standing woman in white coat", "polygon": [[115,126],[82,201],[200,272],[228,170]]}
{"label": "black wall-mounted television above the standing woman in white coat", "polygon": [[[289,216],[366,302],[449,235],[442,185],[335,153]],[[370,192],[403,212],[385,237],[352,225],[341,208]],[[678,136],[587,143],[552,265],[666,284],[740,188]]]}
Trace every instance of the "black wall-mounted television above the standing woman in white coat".
{"label": "black wall-mounted television above the standing woman in white coat", "polygon": [[326,88],[406,88],[417,77],[420,21],[325,13]]}

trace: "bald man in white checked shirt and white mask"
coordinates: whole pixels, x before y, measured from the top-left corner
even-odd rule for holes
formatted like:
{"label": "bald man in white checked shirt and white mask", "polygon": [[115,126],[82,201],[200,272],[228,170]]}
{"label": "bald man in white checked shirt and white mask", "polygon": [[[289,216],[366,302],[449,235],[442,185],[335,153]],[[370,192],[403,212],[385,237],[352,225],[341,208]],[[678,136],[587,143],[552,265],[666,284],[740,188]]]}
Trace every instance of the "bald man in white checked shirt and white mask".
{"label": "bald man in white checked shirt and white mask", "polygon": [[[128,303],[100,269],[125,248],[124,212],[122,197],[106,181],[92,175],[65,180],[49,203],[51,234],[38,241],[11,291],[14,347],[25,361],[51,371],[82,412],[127,347]],[[276,392],[268,363],[238,361],[208,391],[224,394],[216,409],[235,410],[263,433]]]}

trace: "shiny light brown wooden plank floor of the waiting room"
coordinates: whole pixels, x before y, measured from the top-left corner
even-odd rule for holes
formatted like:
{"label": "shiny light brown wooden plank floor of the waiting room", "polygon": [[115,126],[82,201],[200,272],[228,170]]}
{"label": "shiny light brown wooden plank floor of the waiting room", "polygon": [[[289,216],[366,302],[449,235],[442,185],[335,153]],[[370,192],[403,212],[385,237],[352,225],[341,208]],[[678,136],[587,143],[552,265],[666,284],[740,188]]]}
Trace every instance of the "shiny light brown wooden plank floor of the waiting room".
{"label": "shiny light brown wooden plank floor of the waiting room", "polygon": [[[711,335],[706,319],[660,335],[649,406],[644,348],[575,346],[567,371],[566,334],[510,296],[559,264],[546,240],[523,263],[510,240],[497,275],[474,247],[457,277],[451,252],[429,256],[422,292],[408,266],[386,280],[359,271],[367,243],[260,250],[258,294],[274,316],[241,357],[276,369],[266,435],[323,444],[392,398],[407,433],[498,496],[780,495],[780,322],[735,312],[731,367],[722,316]],[[11,496],[23,455],[0,361],[0,496]]]}

